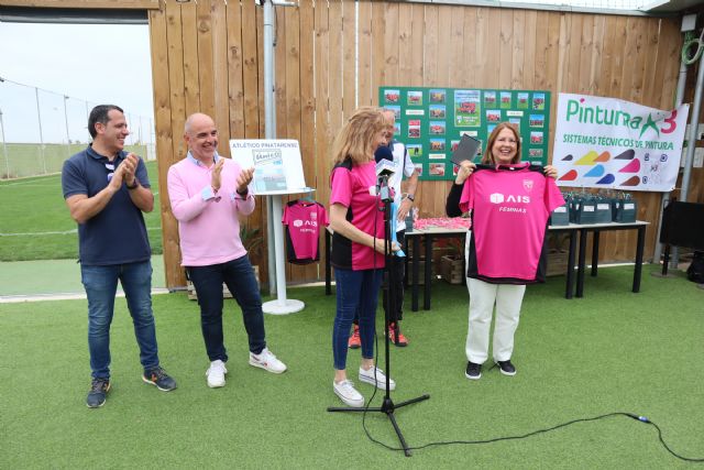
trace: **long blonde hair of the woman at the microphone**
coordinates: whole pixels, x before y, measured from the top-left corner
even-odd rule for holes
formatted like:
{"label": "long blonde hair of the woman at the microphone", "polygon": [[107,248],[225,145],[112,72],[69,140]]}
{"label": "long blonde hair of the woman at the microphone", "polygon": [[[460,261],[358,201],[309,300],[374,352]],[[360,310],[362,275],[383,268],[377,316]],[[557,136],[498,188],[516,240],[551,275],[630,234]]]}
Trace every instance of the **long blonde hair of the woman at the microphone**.
{"label": "long blonde hair of the woman at the microphone", "polygon": [[374,136],[388,125],[380,108],[363,106],[344,123],[332,143],[332,162],[337,165],[345,159],[360,165],[373,159],[376,150]]}

